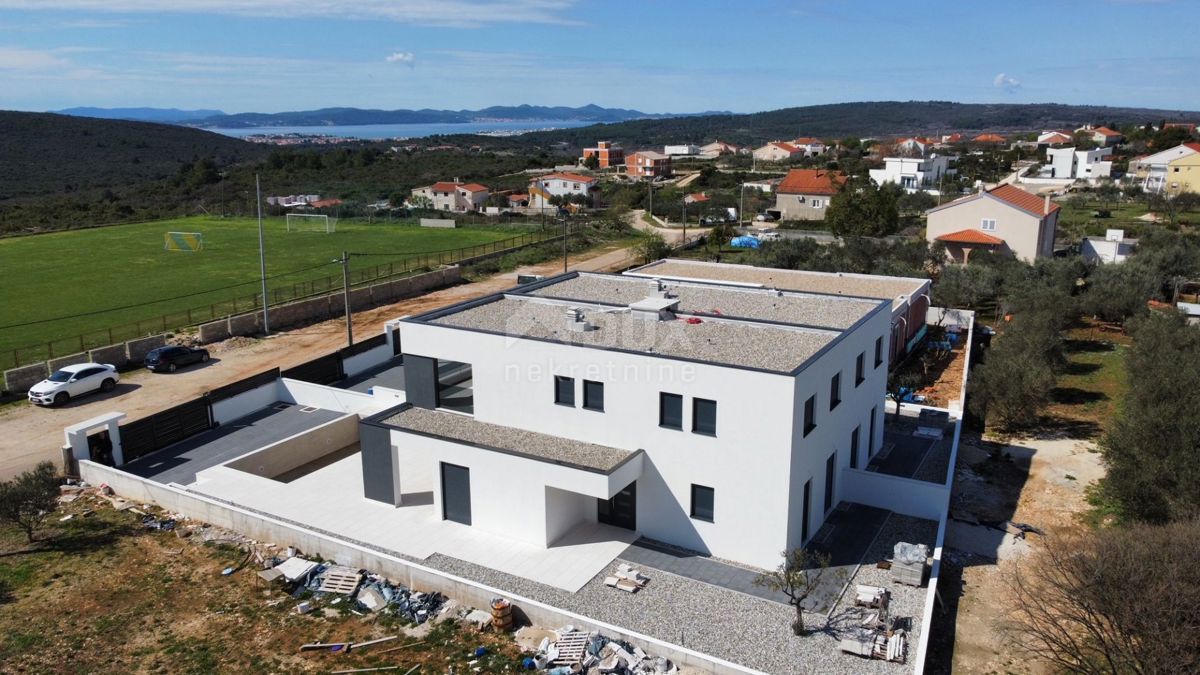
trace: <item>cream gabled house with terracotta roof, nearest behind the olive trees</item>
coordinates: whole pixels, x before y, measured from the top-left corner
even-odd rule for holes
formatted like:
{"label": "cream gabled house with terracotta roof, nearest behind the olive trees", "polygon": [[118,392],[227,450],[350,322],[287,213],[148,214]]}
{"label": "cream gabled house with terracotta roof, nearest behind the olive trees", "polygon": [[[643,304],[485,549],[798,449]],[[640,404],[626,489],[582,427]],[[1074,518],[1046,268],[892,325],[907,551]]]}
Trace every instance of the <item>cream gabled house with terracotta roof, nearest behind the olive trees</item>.
{"label": "cream gabled house with terracotta roof, nearest behind the olive trees", "polygon": [[925,211],[925,239],[946,244],[952,262],[966,264],[983,249],[1032,263],[1054,253],[1058,204],[1014,185],[1000,185]]}

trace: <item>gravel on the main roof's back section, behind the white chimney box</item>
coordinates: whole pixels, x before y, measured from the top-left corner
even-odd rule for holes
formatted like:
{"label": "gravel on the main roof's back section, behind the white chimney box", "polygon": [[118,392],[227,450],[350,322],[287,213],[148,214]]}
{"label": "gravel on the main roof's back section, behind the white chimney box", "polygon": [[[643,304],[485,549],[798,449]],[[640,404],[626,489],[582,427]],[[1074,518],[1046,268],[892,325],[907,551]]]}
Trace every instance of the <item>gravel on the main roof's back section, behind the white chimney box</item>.
{"label": "gravel on the main roof's back section, behind the white chimney box", "polygon": [[[631,276],[581,274],[530,292],[532,295],[570,298],[589,303],[629,305],[650,294],[652,281]],[[728,317],[778,321],[803,325],[845,329],[863,318],[877,303],[787,293],[778,295],[762,288],[730,288],[704,283],[666,282],[679,299],[679,311]]]}

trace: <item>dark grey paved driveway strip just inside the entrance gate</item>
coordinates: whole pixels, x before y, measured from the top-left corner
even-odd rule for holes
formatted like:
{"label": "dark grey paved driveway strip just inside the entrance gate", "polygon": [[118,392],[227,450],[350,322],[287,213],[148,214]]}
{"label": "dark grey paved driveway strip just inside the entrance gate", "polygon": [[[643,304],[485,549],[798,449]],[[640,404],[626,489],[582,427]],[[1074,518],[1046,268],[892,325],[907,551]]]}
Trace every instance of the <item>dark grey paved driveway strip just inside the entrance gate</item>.
{"label": "dark grey paved driveway strip just inside the entrance gate", "polygon": [[196,473],[199,471],[316,429],[343,414],[336,411],[275,404],[138,458],[121,466],[121,471],[157,483],[187,485],[196,482]]}

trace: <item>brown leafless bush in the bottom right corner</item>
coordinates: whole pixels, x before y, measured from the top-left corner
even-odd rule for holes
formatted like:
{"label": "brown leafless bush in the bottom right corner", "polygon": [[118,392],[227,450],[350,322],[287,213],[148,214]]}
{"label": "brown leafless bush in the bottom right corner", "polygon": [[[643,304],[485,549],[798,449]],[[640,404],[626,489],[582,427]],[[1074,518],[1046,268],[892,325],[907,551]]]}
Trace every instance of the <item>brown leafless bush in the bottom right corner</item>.
{"label": "brown leafless bush in the bottom right corner", "polygon": [[1008,577],[1014,646],[1056,671],[1200,671],[1200,520],[1051,536]]}

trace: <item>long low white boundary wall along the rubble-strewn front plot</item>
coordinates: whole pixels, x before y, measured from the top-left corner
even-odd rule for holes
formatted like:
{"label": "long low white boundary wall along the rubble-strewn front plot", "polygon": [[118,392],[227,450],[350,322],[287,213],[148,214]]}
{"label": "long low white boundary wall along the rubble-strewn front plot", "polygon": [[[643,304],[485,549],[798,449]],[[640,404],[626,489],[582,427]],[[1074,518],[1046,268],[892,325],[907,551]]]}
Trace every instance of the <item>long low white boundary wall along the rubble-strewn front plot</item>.
{"label": "long low white boundary wall along the rubble-strewn front plot", "polygon": [[664,656],[678,665],[696,668],[704,673],[718,675],[761,675],[758,670],[703,655],[649,635],[635,633],[611,623],[595,621],[580,614],[509,593],[502,589],[485,586],[469,579],[408,562],[355,542],[338,539],[293,522],[269,518],[194,492],[188,492],[178,485],[161,485],[88,460],[80,461],[79,465],[84,480],[88,480],[92,485],[106,483],[122,497],[137,502],[152,502],[173,513],[181,513],[202,522],[227,527],[262,542],[276,542],[281,545],[296,546],[305,554],[334,560],[338,565],[371,569],[409,589],[425,592],[437,591],[467,607],[486,608],[492,598],[504,597],[509,598],[536,626],[558,627],[571,623],[583,631],[600,631],[610,638],[626,640],[635,646],[642,647],[647,653]]}

